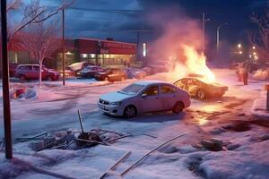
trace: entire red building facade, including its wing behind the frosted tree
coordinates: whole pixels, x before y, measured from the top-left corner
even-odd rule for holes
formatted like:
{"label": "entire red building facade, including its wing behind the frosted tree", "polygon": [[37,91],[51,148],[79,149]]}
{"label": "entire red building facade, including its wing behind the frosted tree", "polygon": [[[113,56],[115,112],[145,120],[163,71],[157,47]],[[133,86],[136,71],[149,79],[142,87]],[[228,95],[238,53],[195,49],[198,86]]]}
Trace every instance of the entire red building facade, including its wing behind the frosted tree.
{"label": "entire red building facade, including its wing behind the frosted tree", "polygon": [[[65,66],[77,62],[104,67],[123,67],[135,61],[136,44],[102,40],[95,38],[76,38],[65,40]],[[61,49],[51,59],[45,59],[43,64],[48,68],[62,69]],[[9,62],[15,64],[37,64],[26,49],[15,45],[9,48]]]}

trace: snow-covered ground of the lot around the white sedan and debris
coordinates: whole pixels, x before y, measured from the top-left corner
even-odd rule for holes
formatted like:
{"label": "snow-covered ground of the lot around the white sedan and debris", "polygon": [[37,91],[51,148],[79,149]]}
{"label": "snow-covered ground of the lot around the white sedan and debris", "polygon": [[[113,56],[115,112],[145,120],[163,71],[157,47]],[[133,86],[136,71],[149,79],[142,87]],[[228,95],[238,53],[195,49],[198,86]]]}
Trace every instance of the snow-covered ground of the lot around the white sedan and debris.
{"label": "snow-covered ground of the lot around the white sedan and debris", "polygon": [[[37,90],[37,98],[12,100],[14,159],[4,159],[0,153],[2,178],[100,178],[108,167],[131,151],[115,171],[106,178],[119,178],[127,166],[149,150],[182,132],[187,135],[153,152],[123,178],[257,178],[269,175],[269,124],[251,114],[253,101],[259,97],[266,81],[249,81],[243,86],[230,70],[214,70],[217,81],[229,86],[226,95],[215,101],[192,100],[192,106],[180,115],[172,113],[145,114],[126,120],[103,115],[96,104],[101,94],[119,90],[133,81],[98,84],[94,81],[60,81],[47,83]],[[149,80],[174,82],[167,73]],[[93,85],[95,84],[95,85]],[[98,85],[97,85],[98,84]],[[1,110],[2,104],[0,105]],[[35,152],[29,143],[15,141],[16,137],[40,132],[80,129],[77,109],[81,110],[85,130],[106,129],[131,133],[110,146],[89,149],[47,149]],[[0,113],[3,119],[3,112]],[[3,121],[0,137],[4,136]],[[202,139],[223,141],[222,151],[199,149]],[[22,160],[27,162],[22,164]],[[32,166],[30,166],[32,165]],[[35,166],[35,170],[33,169]],[[47,171],[47,174],[37,170]]]}

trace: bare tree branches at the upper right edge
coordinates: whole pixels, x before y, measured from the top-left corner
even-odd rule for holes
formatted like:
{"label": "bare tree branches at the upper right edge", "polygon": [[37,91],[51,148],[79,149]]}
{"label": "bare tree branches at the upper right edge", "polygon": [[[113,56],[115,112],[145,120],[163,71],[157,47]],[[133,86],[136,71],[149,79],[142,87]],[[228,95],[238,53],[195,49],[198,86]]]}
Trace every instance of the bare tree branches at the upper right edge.
{"label": "bare tree branches at the upper right edge", "polygon": [[254,13],[250,20],[256,24],[256,33],[249,34],[250,43],[256,47],[259,55],[269,59],[269,7],[263,13]]}

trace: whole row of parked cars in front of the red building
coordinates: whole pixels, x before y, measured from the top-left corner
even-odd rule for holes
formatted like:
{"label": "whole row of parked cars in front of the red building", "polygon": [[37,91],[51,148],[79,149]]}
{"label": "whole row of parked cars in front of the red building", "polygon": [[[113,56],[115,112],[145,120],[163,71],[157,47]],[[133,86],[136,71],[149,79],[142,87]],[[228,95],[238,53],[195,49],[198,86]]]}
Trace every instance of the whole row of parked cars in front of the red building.
{"label": "whole row of parked cars in front of the red building", "polygon": [[[13,66],[12,66],[13,67]],[[12,69],[15,77],[21,81],[38,80],[39,79],[39,64],[20,64]],[[86,62],[75,63],[65,68],[65,77],[75,77],[81,79],[92,79],[97,81],[125,81],[126,79],[143,79],[147,76],[148,69],[144,68],[102,68]],[[63,76],[63,71],[56,72],[42,66],[42,79],[56,81],[60,76]]]}

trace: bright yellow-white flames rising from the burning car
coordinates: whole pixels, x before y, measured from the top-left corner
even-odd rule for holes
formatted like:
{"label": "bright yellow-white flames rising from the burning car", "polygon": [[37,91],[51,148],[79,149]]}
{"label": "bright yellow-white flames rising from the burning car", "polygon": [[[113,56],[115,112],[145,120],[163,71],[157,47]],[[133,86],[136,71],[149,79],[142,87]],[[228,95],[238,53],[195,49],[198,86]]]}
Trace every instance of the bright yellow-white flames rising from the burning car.
{"label": "bright yellow-white flames rising from the burning car", "polygon": [[199,54],[194,47],[184,46],[183,49],[184,55],[187,58],[187,72],[202,75],[201,80],[205,82],[214,82],[215,75],[207,67],[204,54]]}

